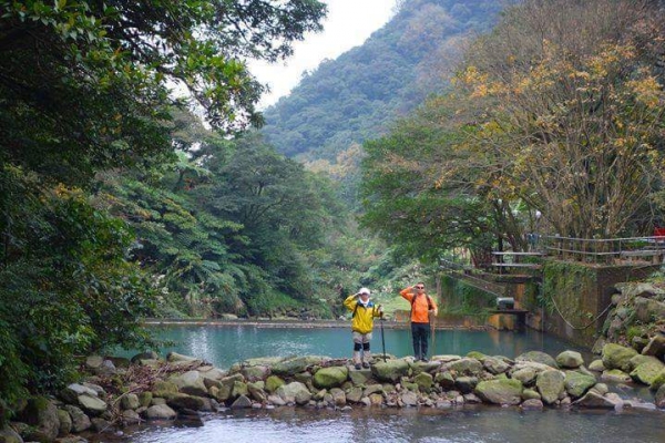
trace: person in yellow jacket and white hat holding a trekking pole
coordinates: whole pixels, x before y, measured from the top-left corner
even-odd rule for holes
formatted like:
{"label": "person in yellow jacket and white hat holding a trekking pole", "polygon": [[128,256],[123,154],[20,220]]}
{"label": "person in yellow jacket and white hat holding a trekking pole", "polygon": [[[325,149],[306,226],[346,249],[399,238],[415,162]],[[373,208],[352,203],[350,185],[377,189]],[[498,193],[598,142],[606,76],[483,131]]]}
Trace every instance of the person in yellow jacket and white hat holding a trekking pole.
{"label": "person in yellow jacket and white hat holding a trekking pole", "polygon": [[[369,368],[371,351],[369,342],[371,340],[371,330],[374,328],[375,317],[381,317],[383,310],[381,306],[376,306],[369,299],[369,289],[360,290],[344,300],[344,306],[352,311],[351,330],[354,336],[354,365],[356,369]],[[362,351],[362,358],[360,357]]]}

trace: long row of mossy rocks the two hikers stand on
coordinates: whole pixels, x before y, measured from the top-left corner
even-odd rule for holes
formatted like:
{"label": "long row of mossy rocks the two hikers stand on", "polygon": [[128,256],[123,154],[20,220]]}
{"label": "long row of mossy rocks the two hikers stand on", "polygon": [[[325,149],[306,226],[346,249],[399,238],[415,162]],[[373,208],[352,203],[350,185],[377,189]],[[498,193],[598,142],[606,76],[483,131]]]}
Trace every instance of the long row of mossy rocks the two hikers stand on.
{"label": "long row of mossy rocks the two hikers stand on", "polygon": [[27,402],[19,422],[0,431],[0,442],[74,442],[80,437],[68,435],[119,432],[150,420],[200,422],[202,412],[225,408],[637,406],[610,392],[605,382],[614,381],[648,384],[656,406],[665,408],[662,359],[618,344],[606,344],[589,369],[575,351],[555,358],[532,351],[514,360],[480,352],[436,356],[430,362],[375,357],[364,370],[346,359],[305,356],[252,359],[223,371],[176,353],[165,361],[154,354],[132,362],[91,357],[86,367],[93,375],[85,382],[70,384],[57,399]]}

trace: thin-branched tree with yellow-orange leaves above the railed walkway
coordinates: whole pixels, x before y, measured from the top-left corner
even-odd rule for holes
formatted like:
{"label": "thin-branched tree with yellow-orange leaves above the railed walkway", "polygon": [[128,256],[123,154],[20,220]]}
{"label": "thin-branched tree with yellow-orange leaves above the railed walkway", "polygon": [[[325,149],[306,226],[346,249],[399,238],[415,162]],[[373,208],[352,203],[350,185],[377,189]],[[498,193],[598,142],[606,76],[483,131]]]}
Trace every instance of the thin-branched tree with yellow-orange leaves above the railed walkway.
{"label": "thin-branched tree with yellow-orange leaves above the railed walkway", "polygon": [[487,184],[564,236],[644,235],[664,171],[662,23],[649,1],[512,9],[459,76],[478,116],[464,148],[484,158]]}

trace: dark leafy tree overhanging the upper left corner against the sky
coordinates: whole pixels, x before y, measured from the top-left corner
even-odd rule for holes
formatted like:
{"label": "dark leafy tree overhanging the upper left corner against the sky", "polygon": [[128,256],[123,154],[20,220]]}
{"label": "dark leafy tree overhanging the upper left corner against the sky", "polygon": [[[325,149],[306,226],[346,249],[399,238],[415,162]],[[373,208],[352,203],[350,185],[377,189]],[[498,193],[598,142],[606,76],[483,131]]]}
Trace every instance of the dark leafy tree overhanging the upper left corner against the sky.
{"label": "dark leafy tree overhanging the upper left corner against the sky", "polygon": [[208,122],[258,123],[244,58],[276,60],[320,29],[316,0],[1,1],[0,161],[64,183],[171,154],[171,93]]}

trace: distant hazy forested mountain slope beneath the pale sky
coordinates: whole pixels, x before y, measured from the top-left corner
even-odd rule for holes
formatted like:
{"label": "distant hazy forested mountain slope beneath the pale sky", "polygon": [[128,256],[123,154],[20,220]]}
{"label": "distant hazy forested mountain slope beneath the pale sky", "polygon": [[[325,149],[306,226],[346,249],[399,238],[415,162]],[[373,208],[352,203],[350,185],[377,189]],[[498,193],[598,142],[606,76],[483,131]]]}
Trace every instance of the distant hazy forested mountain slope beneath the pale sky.
{"label": "distant hazy forested mountain slope beneath the pale sky", "polygon": [[447,84],[469,37],[491,29],[505,2],[407,0],[360,47],[324,61],[264,113],[263,134],[304,161],[327,159],[386,132]]}

